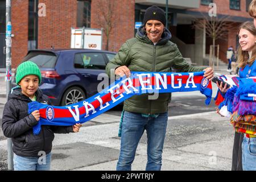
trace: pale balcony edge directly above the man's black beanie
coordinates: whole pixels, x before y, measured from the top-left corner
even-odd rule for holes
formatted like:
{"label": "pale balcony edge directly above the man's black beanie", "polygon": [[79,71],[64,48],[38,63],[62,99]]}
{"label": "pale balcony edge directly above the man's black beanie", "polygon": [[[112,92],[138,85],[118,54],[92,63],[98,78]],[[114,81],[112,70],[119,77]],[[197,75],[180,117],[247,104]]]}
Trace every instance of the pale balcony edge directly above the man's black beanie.
{"label": "pale balcony edge directly above the man's black beanie", "polygon": [[[135,3],[141,5],[166,6],[166,0],[135,0]],[[175,9],[198,9],[200,0],[168,0],[168,7]]]}

